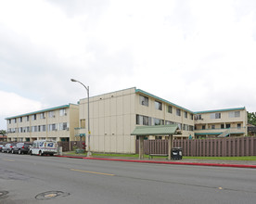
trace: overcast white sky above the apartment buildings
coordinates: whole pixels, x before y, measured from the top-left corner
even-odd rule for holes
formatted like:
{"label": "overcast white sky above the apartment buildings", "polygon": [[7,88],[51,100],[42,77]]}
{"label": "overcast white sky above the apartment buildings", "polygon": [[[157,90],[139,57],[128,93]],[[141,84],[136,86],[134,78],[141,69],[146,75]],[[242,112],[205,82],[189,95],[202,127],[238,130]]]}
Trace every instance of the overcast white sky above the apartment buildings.
{"label": "overcast white sky above the apartment buildings", "polygon": [[192,111],[256,111],[255,0],[0,0],[6,117],[136,87]]}

